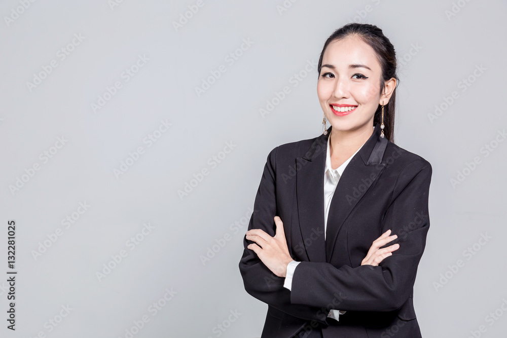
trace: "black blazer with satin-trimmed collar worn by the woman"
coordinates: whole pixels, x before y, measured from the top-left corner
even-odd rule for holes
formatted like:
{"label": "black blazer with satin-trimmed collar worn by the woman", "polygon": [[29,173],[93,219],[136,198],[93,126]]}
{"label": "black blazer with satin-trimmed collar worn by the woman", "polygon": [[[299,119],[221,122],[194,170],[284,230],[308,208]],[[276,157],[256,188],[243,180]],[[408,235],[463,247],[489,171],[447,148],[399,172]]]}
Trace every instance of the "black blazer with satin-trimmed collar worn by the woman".
{"label": "black blazer with satin-trimmed collar worn by the woman", "polygon": [[[429,228],[431,165],[372,136],[346,166],[331,200],[324,241],[324,168],[328,135],[286,143],[268,155],[248,229],[275,235],[283,221],[289,253],[301,263],[292,291],[246,247],[245,290],[268,304],[262,338],[292,337],[320,325],[325,337],[421,337],[412,303]],[[373,241],[391,229],[400,248],[379,266],[361,266]],[[339,322],[330,309],[347,311]],[[310,325],[310,326],[308,326]]]}

